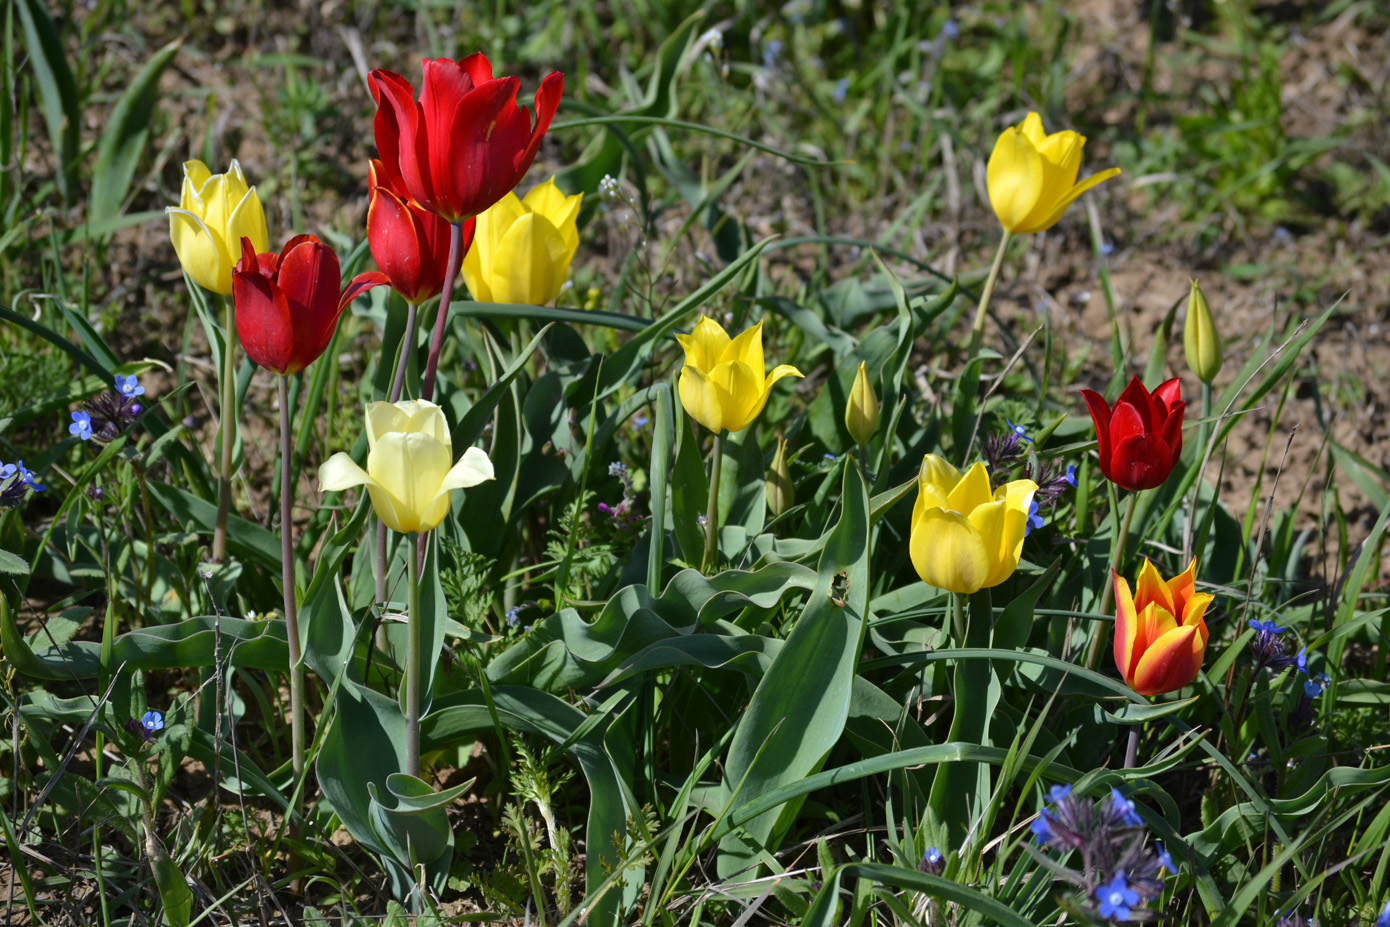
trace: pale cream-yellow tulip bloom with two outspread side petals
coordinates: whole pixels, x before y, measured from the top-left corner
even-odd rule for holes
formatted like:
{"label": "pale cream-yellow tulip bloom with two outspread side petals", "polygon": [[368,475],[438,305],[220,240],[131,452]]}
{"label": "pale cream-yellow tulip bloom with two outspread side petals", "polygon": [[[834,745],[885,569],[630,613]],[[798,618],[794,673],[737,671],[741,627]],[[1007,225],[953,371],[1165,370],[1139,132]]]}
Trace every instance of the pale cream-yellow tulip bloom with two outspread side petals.
{"label": "pale cream-yellow tulip bloom with two outspread side petals", "polygon": [[325,460],[318,488],[367,486],[377,517],[400,534],[435,528],[455,489],[492,479],[492,461],[478,448],[453,463],[443,410],[424,399],[368,404],[367,448],[366,470],[341,452]]}

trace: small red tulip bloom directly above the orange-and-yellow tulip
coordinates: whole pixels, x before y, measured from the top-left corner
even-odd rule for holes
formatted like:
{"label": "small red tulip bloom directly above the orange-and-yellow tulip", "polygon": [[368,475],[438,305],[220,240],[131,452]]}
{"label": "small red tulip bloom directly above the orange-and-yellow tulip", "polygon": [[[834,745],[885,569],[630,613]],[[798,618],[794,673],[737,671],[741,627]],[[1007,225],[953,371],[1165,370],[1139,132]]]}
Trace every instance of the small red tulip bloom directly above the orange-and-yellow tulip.
{"label": "small red tulip bloom directly above the orange-and-yellow tulip", "polygon": [[1183,453],[1182,384],[1175,377],[1154,392],[1133,377],[1112,409],[1083,389],[1101,443],[1101,473],[1120,489],[1152,489],[1168,479]]}

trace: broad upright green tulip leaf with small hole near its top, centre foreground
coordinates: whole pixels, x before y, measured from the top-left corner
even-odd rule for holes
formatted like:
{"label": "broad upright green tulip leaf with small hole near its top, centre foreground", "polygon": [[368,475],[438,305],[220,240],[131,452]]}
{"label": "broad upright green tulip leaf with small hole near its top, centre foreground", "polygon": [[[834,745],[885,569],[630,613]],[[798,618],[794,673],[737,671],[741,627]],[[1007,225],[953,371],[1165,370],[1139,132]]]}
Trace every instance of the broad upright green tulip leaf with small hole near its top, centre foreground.
{"label": "broad upright green tulip leaf with small hole near its top, centre foreground", "polygon": [[[806,607],[734,731],[724,788],[741,803],[815,773],[844,731],[869,605],[869,493],[858,467],[844,468],[842,506]],[[721,878],[755,876],[759,852],[776,849],[778,819],[770,810],[720,841]]]}

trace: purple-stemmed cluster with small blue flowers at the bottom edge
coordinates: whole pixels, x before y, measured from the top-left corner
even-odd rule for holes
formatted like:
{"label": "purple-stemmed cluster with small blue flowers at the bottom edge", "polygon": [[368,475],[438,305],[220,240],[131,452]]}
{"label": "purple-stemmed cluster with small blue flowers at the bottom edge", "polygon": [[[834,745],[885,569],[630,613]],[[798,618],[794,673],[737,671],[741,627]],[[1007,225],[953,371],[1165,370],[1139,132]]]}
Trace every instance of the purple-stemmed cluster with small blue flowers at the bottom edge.
{"label": "purple-stemmed cluster with small blue flowers at the bottom edge", "polygon": [[1154,920],[1148,908],[1163,892],[1163,871],[1176,873],[1173,858],[1155,842],[1134,802],[1112,788],[1095,802],[1072,795],[1070,785],[1048,791],[1048,807],[1030,824],[1041,849],[1074,851],[1080,869],[1062,866],[1040,849],[1029,852],[1054,876],[1076,887],[1076,903],[1102,920]]}

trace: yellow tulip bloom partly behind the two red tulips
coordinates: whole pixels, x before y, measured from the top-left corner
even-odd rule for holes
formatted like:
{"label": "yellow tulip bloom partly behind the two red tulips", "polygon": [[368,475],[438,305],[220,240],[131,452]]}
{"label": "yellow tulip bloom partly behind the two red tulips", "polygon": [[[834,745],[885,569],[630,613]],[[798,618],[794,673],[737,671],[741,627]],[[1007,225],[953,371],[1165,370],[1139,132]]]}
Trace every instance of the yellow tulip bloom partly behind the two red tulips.
{"label": "yellow tulip bloom partly behind the two red tulips", "polygon": [[580,247],[582,193],[566,196],[552,177],[524,200],[507,193],[478,217],[463,256],[463,282],[480,303],[555,302]]}

